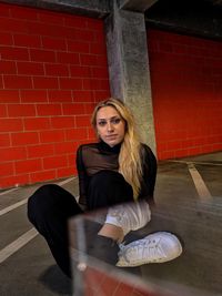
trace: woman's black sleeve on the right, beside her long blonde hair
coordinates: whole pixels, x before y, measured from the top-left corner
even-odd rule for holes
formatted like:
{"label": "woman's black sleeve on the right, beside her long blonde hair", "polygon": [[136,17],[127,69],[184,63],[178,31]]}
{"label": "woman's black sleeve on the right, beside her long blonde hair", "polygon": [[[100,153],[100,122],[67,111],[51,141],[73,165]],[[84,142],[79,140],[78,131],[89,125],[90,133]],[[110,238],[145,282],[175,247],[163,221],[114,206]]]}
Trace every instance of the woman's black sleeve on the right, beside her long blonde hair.
{"label": "woman's black sleeve on the right, beside her long blonde hair", "polygon": [[153,194],[157,178],[157,159],[152,150],[145,144],[142,144],[141,156],[143,177],[139,198],[145,198],[148,202],[154,202]]}

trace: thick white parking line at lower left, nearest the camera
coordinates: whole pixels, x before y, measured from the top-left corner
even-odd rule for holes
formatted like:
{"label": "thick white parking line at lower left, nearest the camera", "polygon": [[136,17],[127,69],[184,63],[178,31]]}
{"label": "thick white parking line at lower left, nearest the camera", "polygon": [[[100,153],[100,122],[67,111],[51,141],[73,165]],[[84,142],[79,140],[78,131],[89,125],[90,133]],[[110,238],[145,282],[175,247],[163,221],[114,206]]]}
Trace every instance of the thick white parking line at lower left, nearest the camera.
{"label": "thick white parking line at lower left, nearest the camera", "polygon": [[32,238],[38,235],[38,232],[34,228],[31,228],[19,238],[13,241],[11,244],[6,246],[0,251],[0,263],[4,262],[8,257],[13,255],[17,251],[23,247],[27,243],[29,243]]}

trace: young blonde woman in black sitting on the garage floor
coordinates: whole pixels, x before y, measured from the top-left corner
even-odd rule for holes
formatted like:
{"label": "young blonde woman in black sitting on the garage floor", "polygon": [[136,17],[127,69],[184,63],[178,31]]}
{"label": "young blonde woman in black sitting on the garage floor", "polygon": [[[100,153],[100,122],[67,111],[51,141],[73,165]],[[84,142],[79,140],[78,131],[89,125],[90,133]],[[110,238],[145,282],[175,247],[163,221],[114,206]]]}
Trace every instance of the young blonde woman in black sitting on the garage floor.
{"label": "young blonde woman in black sitting on the garage floor", "polygon": [[[134,120],[123,102],[100,102],[92,114],[98,143],[81,145],[77,153],[79,204],[58,185],[40,187],[28,202],[28,216],[44,236],[58,265],[71,276],[68,252],[68,218],[85,211],[108,208],[97,227],[89,254],[117,266],[167,262],[182,253],[179,239],[165,232],[121,244],[130,231],[151,218],[157,160],[138,139]],[[109,255],[108,255],[109,254]]]}

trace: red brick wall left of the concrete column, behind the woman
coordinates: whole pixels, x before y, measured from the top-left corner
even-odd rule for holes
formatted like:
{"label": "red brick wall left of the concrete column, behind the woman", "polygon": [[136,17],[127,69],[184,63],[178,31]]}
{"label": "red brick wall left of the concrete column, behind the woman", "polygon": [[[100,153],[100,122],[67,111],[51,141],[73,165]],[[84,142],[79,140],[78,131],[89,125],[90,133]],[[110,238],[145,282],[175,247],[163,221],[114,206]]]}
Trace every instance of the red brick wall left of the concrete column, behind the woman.
{"label": "red brick wall left of the concrete column, behind the woman", "polygon": [[0,187],[75,174],[109,95],[101,20],[0,4]]}

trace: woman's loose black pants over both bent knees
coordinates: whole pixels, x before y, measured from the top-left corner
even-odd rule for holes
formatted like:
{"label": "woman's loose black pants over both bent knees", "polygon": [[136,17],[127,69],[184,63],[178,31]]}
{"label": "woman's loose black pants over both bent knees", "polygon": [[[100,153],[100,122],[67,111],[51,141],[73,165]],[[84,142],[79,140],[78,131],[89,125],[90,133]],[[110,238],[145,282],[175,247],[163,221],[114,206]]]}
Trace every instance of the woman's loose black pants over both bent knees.
{"label": "woman's loose black pants over both bent knees", "polygon": [[[88,207],[90,211],[128,201],[133,201],[132,187],[124,181],[121,174],[101,171],[93,175],[88,190]],[[82,213],[74,196],[56,184],[41,186],[28,201],[28,217],[30,222],[47,239],[57,264],[69,277],[71,276],[71,267],[68,220]],[[110,243],[110,239],[104,241],[104,237],[95,233],[95,242],[101,244],[98,249],[104,249],[109,245],[110,247],[112,245],[111,248],[113,249],[113,244]],[[97,248],[94,249],[97,251]],[[111,254],[109,252],[108,249],[107,254]],[[118,246],[114,249],[114,257],[117,257],[117,252]]]}

